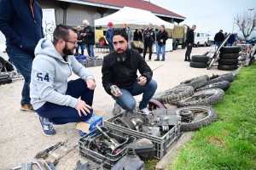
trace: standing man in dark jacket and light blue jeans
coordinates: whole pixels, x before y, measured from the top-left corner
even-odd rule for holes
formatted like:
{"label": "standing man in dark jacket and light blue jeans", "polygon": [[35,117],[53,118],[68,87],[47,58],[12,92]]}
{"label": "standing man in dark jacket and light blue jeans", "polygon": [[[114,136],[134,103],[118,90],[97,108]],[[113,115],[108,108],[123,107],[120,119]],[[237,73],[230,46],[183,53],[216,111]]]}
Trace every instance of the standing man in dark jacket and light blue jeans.
{"label": "standing man in dark jacket and light blue jeans", "polygon": [[165,26],[160,26],[160,31],[157,34],[157,43],[158,43],[158,49],[157,49],[157,58],[154,59],[155,61],[160,60],[160,52],[162,51],[162,59],[161,61],[166,60],[166,40],[168,39],[168,33],[165,30]]}

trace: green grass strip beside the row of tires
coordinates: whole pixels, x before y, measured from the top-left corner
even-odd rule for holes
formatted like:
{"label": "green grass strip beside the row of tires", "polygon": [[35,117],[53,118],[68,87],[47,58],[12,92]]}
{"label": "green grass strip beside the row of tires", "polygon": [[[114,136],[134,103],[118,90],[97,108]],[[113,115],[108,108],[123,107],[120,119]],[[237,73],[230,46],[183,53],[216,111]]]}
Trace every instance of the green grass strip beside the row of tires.
{"label": "green grass strip beside the row of tires", "polygon": [[[241,68],[212,107],[217,122],[195,132],[168,169],[256,169],[256,64]],[[157,162],[146,161],[147,169]]]}

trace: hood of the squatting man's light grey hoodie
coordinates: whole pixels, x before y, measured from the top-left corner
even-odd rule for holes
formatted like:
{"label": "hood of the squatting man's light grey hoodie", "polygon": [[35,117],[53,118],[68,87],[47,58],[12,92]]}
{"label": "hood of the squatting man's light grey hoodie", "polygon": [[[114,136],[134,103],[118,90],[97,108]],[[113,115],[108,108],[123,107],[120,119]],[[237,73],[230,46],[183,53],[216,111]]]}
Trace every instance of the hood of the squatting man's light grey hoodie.
{"label": "hood of the squatting man's light grey hoodie", "polygon": [[48,55],[49,57],[60,59],[61,61],[66,62],[61,54],[59,54],[55,49],[53,42],[47,38],[42,38],[38,42],[38,45],[35,48],[35,56],[38,54]]}

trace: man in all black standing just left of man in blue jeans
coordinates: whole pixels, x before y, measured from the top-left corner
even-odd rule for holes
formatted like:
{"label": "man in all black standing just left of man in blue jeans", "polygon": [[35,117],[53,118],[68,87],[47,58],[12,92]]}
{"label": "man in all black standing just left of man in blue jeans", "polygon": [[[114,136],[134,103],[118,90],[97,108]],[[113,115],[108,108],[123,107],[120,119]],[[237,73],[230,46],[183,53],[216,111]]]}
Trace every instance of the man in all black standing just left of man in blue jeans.
{"label": "man in all black standing just left of man in blue jeans", "polygon": [[147,49],[149,48],[149,57],[147,61],[151,61],[152,55],[152,46],[155,41],[155,35],[152,24],[148,24],[147,30],[143,32],[143,39],[144,39],[144,52],[143,52],[143,59],[145,59],[145,55],[147,53]]}

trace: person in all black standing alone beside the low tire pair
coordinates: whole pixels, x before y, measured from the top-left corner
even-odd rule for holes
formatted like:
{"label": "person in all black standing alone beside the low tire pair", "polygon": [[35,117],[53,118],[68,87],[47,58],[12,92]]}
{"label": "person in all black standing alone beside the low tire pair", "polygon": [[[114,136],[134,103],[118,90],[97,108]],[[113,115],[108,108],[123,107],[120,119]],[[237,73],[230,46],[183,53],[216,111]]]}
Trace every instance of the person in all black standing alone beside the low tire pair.
{"label": "person in all black standing alone beside the low tire pair", "polygon": [[195,28],[196,26],[194,25],[187,32],[187,38],[186,38],[187,50],[186,50],[184,61],[190,61],[190,54],[191,54],[192,47],[194,44],[194,39],[195,39],[195,34],[194,34]]}

